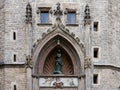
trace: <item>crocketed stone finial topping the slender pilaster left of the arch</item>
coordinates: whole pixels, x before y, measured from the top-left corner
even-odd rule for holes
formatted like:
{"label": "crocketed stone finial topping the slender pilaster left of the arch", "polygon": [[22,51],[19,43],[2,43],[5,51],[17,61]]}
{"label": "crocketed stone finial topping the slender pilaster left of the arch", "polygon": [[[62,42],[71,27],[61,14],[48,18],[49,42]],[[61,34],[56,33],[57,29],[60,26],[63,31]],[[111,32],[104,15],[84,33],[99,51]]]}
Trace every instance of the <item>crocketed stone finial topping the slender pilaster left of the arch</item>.
{"label": "crocketed stone finial topping the slender pilaster left of the arch", "polygon": [[26,23],[31,24],[32,23],[32,7],[30,3],[26,6]]}

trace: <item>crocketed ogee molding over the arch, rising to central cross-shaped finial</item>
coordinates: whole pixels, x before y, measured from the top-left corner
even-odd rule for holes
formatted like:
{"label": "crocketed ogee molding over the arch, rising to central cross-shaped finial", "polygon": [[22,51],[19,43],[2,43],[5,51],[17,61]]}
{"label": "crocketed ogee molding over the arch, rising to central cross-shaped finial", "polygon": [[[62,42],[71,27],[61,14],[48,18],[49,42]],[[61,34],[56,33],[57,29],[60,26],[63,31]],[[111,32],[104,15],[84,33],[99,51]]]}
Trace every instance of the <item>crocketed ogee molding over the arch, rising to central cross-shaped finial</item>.
{"label": "crocketed ogee molding over the arch, rising to central cross-shaped finial", "polygon": [[47,32],[44,32],[42,34],[42,38],[41,39],[38,39],[35,44],[33,45],[33,52],[35,51],[36,47],[38,46],[38,44],[41,42],[41,40],[43,40],[45,37],[49,36],[50,34],[55,34],[57,33],[57,35],[68,35],[70,37],[72,37],[79,45],[80,45],[80,48],[82,49],[82,52],[84,52],[84,47],[81,47],[84,46],[81,42],[81,40],[79,39],[79,37],[77,37],[73,32],[70,32],[69,29],[67,29],[63,23],[61,22],[61,16],[63,15],[63,11],[61,10],[60,8],[60,3],[57,3],[57,7],[55,10],[50,10],[50,13],[51,14],[54,14],[56,16],[56,22],[53,24],[53,26],[51,28],[49,28],[47,30]]}

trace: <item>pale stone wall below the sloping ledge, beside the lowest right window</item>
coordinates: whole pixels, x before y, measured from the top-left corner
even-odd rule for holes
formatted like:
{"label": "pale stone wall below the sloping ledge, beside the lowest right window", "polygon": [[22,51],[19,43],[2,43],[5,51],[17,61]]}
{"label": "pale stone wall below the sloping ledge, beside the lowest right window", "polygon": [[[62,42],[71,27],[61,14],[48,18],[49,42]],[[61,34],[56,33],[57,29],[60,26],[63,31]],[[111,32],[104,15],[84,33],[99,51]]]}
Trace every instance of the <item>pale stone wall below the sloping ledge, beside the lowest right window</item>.
{"label": "pale stone wall below the sloping ledge, beside the lowest right window", "polygon": [[94,74],[98,74],[98,84],[92,85],[92,90],[119,90],[120,72],[110,67],[97,67]]}

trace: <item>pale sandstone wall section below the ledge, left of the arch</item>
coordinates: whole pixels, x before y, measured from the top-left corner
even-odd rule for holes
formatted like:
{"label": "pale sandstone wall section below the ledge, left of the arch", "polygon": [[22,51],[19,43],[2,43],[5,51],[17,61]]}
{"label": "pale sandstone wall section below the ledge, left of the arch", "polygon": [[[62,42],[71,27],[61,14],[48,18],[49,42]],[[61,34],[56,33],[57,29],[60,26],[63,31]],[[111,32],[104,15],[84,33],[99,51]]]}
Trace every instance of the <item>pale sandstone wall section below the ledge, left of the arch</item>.
{"label": "pale sandstone wall section below the ledge, left of the arch", "polygon": [[5,68],[4,71],[4,90],[14,90],[14,85],[16,85],[17,90],[26,90],[26,72],[24,68],[9,67]]}

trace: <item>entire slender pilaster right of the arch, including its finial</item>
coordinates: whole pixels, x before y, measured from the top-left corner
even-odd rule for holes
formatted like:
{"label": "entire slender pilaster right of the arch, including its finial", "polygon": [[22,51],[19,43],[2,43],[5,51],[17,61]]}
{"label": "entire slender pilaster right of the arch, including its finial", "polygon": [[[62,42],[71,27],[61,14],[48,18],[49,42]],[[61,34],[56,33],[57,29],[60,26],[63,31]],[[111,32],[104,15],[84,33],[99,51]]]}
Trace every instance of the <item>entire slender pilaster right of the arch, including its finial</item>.
{"label": "entire slender pilaster right of the arch, including its finial", "polygon": [[87,4],[85,7],[85,17],[84,17],[84,26],[85,26],[85,60],[84,68],[86,73],[86,90],[92,90],[92,72],[91,72],[91,16],[90,8]]}

